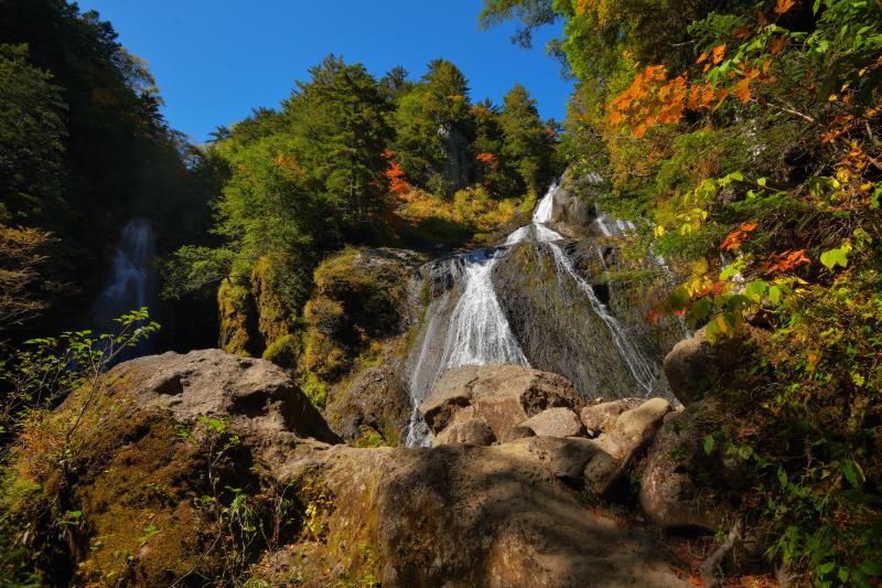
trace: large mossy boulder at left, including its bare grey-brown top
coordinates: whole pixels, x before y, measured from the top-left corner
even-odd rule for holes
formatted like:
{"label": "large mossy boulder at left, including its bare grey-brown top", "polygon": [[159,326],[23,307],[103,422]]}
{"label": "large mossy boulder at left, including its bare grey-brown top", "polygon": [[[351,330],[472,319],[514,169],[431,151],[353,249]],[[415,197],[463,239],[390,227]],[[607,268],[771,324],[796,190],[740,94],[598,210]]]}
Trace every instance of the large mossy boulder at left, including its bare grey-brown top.
{"label": "large mossy boulder at left, including its bare grey-brown top", "polygon": [[[268,361],[219,350],[132,360],[74,391],[20,439],[0,480],[0,537],[20,537],[31,584],[222,577],[229,554],[219,510],[241,492],[258,518],[267,514],[263,472],[334,447],[314,439],[336,436]],[[60,447],[69,448],[65,467]],[[7,545],[0,539],[0,550]],[[8,575],[6,559],[0,569]]]}

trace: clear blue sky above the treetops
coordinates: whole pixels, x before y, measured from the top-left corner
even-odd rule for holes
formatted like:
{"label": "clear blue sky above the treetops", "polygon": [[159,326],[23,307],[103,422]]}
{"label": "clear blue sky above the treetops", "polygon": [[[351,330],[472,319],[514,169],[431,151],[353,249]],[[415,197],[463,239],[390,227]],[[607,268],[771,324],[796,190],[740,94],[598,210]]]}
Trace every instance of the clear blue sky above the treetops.
{"label": "clear blue sky above the treetops", "polygon": [[79,0],[150,63],[172,127],[196,141],[252,107],[276,107],[329,53],[377,76],[402,65],[418,78],[434,57],[455,63],[472,98],[501,103],[515,83],[562,119],[571,84],[545,54],[509,42],[513,25],[477,30],[481,0]]}

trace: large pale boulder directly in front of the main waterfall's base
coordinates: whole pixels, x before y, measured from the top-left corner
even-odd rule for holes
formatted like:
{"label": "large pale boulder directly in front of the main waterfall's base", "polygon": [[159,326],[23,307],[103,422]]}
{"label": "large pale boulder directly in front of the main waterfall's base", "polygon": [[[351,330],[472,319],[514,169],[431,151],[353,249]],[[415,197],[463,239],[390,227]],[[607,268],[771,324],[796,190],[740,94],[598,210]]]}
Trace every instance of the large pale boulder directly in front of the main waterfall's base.
{"label": "large pale boulder directly in front of the main waterfall's base", "polygon": [[551,407],[579,410],[582,399],[563,376],[518,365],[466,365],[448,370],[420,405],[434,435],[477,418],[497,439]]}

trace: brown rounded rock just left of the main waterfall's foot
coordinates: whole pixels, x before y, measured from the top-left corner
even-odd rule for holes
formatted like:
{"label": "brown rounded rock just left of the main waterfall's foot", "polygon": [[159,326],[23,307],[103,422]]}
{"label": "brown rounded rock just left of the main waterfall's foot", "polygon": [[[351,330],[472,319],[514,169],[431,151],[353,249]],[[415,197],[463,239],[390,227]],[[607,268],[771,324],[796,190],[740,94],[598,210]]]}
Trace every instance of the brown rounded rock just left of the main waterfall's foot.
{"label": "brown rounded rock just left of the main waterfall's foot", "polygon": [[370,367],[334,393],[325,409],[329,424],[344,440],[354,441],[365,429],[398,445],[410,418],[410,398],[404,382],[387,366]]}

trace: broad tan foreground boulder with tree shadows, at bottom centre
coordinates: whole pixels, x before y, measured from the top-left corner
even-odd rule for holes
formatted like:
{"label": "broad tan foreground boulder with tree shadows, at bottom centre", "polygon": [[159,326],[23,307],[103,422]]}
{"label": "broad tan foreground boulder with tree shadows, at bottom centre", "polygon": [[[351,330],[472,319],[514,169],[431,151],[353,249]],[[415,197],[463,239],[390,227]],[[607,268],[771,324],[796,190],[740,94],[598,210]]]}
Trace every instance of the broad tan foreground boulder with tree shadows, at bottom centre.
{"label": "broad tan foreground boulder with tree shadows, at bottom centre", "polygon": [[568,483],[592,451],[588,439],[534,437],[314,452],[301,470],[312,473],[279,473],[313,475],[330,498],[314,509],[321,533],[257,570],[269,585],[295,571],[305,586],[688,586],[649,534],[587,506]]}

